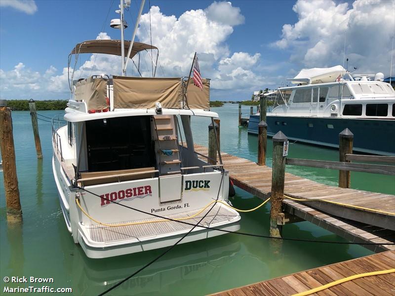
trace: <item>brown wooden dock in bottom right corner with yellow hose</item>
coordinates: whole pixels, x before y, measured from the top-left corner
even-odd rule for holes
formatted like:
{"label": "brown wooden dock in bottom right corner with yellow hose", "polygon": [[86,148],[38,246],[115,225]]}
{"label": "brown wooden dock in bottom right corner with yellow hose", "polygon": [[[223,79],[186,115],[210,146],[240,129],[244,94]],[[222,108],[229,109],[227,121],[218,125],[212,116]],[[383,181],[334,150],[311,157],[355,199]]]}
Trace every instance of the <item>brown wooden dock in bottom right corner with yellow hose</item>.
{"label": "brown wooden dock in bottom right corner with yellow hose", "polygon": [[[395,251],[387,251],[277,277],[213,295],[293,295],[355,274],[392,268],[395,268]],[[395,273],[355,279],[312,295],[393,296],[395,295]]]}

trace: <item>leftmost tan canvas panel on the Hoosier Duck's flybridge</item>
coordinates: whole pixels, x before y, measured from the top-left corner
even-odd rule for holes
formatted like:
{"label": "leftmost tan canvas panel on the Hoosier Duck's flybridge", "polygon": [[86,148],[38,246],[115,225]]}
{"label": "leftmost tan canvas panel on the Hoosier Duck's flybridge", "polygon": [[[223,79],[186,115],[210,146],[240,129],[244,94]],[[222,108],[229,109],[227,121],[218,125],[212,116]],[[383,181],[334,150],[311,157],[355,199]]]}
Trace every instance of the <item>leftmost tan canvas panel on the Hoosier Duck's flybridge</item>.
{"label": "leftmost tan canvas panel on the Hoosier Duck's flybridge", "polygon": [[107,80],[86,78],[76,84],[76,100],[85,100],[88,110],[103,110],[107,106]]}

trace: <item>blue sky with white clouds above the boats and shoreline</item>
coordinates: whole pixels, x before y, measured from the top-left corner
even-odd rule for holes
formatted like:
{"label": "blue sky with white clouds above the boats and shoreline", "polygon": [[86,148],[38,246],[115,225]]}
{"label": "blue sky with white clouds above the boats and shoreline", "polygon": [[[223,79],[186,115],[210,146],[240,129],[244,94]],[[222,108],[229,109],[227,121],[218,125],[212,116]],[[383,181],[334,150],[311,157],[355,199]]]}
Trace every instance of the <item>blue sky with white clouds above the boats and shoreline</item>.
{"label": "blue sky with white clouds above the boats and shoreline", "polygon": [[[119,38],[119,31],[109,26],[118,16],[118,2],[113,1],[104,23],[112,1],[0,0],[0,98],[69,98],[64,70],[69,52],[101,32],[101,37]],[[150,4],[153,44],[159,47],[164,73],[188,75],[197,51],[202,76],[212,78],[212,100],[249,99],[253,90],[280,86],[302,68],[342,64],[345,36],[350,66],[390,74],[393,0]],[[139,5],[132,1],[131,13],[125,14],[130,25],[126,38],[131,37]],[[149,42],[149,7],[146,1],[137,35],[144,42]],[[78,64],[85,70],[79,72],[82,76],[92,65],[95,71],[119,74],[117,57],[83,58]],[[144,59],[149,69],[143,72],[150,75],[151,62],[148,56]]]}

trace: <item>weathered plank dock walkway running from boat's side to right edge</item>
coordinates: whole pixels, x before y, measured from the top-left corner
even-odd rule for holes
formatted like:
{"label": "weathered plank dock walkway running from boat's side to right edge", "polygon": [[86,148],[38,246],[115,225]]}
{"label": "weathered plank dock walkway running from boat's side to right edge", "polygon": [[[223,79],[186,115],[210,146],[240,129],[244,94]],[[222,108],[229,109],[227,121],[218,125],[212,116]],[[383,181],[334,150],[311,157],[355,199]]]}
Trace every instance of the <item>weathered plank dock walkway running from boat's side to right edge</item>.
{"label": "weathered plank dock walkway running from boat's side to right edge", "polygon": [[[195,145],[198,153],[207,155],[208,148]],[[248,159],[221,152],[222,161],[233,183],[261,199],[270,196],[272,168],[259,166]],[[295,198],[320,198],[367,207],[395,214],[395,195],[322,185],[285,173],[285,194]],[[395,242],[395,216],[349,208],[321,201],[295,202],[283,200],[284,211],[334,232],[352,242]],[[395,250],[394,245],[365,245],[381,252]]]}

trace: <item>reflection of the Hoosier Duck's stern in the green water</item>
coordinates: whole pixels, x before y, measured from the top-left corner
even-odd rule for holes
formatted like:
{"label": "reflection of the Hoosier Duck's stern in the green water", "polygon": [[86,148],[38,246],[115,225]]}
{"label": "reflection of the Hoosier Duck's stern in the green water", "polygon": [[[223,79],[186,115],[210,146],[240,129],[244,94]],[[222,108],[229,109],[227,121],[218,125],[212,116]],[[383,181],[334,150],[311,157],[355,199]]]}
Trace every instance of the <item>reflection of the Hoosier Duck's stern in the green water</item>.
{"label": "reflection of the Hoosier Duck's stern in the green water", "polygon": [[[201,282],[202,278],[210,277],[218,269],[232,264],[240,246],[239,238],[235,235],[210,238],[204,246],[196,246],[194,243],[176,246],[171,255],[167,254],[115,289],[114,295],[124,295],[125,291],[132,291],[133,295],[163,295],[172,290],[170,294],[174,294],[174,288],[171,287],[180,281]],[[73,265],[70,266],[73,270],[73,289],[81,295],[99,294],[164,250],[163,248],[107,259],[88,259],[82,250],[74,250],[74,258],[70,260]],[[70,265],[70,262],[67,264]],[[183,291],[180,293],[185,294],[186,290]]]}

